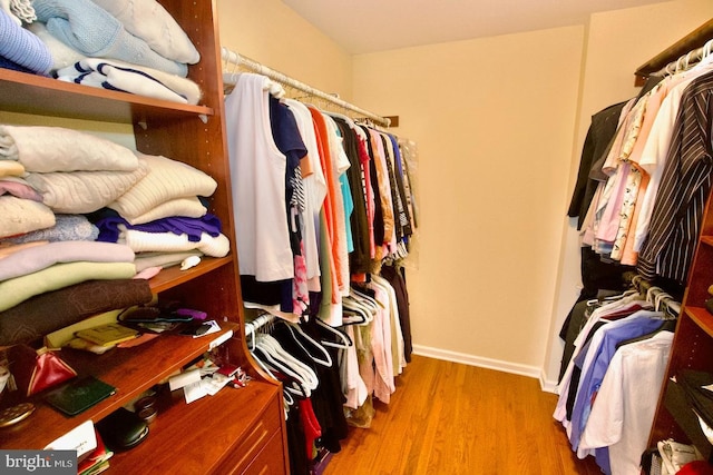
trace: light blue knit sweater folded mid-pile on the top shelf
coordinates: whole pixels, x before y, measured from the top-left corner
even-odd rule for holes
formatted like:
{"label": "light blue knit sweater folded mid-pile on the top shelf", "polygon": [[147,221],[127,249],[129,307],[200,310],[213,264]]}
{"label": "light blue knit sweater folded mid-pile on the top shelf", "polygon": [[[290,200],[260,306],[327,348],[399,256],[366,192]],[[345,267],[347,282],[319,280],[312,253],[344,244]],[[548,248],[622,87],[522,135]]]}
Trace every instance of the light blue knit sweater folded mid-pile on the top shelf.
{"label": "light blue knit sweater folded mid-pile on the top shelf", "polygon": [[35,0],[37,19],[65,44],[91,58],[113,58],[185,78],[188,67],[152,50],[89,0]]}

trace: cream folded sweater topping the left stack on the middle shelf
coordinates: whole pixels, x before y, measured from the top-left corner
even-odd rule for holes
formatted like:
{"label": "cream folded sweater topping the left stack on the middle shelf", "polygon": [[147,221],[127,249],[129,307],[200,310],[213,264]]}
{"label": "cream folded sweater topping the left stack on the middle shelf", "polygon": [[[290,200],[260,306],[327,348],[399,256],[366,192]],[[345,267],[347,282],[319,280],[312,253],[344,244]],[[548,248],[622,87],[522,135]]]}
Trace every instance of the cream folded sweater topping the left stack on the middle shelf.
{"label": "cream folded sweater topping the left stack on the middle shelf", "polygon": [[138,158],[128,148],[62,127],[0,126],[0,156],[36,172],[138,168]]}

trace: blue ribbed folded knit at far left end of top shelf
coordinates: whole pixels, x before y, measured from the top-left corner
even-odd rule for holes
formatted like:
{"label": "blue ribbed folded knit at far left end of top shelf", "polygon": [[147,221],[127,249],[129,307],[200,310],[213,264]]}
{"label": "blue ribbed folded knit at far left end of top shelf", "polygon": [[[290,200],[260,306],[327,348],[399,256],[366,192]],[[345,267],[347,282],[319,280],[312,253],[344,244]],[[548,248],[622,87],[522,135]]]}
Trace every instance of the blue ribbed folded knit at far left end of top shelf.
{"label": "blue ribbed folded knit at far left end of top shelf", "polygon": [[0,9],[0,56],[29,71],[47,75],[52,67],[49,48],[32,32],[18,26]]}

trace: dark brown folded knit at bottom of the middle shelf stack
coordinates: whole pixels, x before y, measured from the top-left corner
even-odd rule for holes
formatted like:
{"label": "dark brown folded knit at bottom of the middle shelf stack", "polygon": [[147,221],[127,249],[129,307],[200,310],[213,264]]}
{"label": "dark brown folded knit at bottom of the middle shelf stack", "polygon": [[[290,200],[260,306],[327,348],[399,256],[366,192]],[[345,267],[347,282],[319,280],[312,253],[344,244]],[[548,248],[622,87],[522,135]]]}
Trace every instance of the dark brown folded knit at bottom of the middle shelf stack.
{"label": "dark brown folded knit at bottom of the middle shelf stack", "polygon": [[96,314],[150,300],[145,279],[87,280],[40,294],[0,311],[0,346],[30,343]]}

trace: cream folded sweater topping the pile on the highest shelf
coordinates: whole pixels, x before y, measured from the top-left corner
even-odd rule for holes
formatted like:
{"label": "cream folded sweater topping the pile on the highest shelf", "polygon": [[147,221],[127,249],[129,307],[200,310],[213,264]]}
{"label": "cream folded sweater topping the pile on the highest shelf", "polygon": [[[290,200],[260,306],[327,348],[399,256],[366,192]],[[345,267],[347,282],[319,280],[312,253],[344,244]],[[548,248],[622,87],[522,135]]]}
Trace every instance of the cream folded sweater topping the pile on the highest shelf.
{"label": "cream folded sweater topping the pile on the highest shelf", "polygon": [[146,41],[157,53],[195,65],[198,50],[176,20],[155,0],[91,0],[117,20],[126,31]]}

